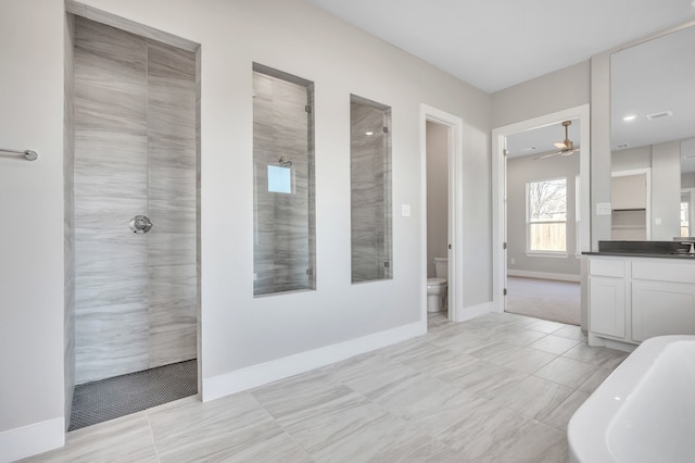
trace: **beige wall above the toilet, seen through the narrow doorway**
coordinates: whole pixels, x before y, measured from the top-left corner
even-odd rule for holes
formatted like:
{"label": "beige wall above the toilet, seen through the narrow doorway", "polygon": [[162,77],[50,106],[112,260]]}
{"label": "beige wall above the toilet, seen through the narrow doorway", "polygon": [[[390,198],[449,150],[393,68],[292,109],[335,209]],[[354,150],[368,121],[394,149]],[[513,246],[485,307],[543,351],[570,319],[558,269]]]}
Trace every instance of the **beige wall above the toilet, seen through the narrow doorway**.
{"label": "beige wall above the toilet, seen through the narrow doorway", "polygon": [[448,127],[427,122],[427,276],[448,255]]}

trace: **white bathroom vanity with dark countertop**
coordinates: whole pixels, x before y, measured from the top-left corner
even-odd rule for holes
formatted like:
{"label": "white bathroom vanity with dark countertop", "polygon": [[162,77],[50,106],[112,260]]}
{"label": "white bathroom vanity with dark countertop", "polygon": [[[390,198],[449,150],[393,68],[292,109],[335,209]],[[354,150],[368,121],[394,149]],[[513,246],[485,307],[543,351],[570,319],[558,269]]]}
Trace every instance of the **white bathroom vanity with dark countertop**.
{"label": "white bathroom vanity with dark countertop", "polygon": [[602,241],[586,252],[589,345],[632,351],[695,335],[695,252],[678,241]]}

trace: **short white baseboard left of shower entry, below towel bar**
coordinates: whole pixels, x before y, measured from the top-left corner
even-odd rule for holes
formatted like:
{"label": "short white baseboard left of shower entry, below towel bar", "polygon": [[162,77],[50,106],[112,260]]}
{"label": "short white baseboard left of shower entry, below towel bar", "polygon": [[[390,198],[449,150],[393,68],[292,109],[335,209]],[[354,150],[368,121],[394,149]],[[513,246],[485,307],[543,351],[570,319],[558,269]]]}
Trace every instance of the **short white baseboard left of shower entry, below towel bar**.
{"label": "short white baseboard left of shower entry, below towel bar", "polygon": [[65,445],[65,418],[53,418],[0,433],[0,462],[13,462]]}

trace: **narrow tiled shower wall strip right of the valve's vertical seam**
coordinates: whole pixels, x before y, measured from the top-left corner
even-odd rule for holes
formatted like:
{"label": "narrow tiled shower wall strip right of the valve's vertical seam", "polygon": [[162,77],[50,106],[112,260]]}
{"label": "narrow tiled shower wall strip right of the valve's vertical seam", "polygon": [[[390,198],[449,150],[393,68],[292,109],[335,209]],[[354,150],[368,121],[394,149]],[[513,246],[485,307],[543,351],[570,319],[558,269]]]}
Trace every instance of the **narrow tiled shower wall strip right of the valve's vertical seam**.
{"label": "narrow tiled shower wall strip right of the valve's vertical seam", "polygon": [[150,367],[198,354],[195,55],[148,41]]}

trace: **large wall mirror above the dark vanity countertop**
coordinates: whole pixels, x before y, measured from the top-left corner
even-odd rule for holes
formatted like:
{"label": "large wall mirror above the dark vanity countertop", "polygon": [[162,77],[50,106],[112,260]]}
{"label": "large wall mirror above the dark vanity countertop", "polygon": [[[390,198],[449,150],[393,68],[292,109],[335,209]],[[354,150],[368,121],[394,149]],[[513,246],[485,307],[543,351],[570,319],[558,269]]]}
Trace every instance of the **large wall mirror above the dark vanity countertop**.
{"label": "large wall mirror above the dark vanity countertop", "polygon": [[695,26],[610,57],[611,239],[695,235]]}

